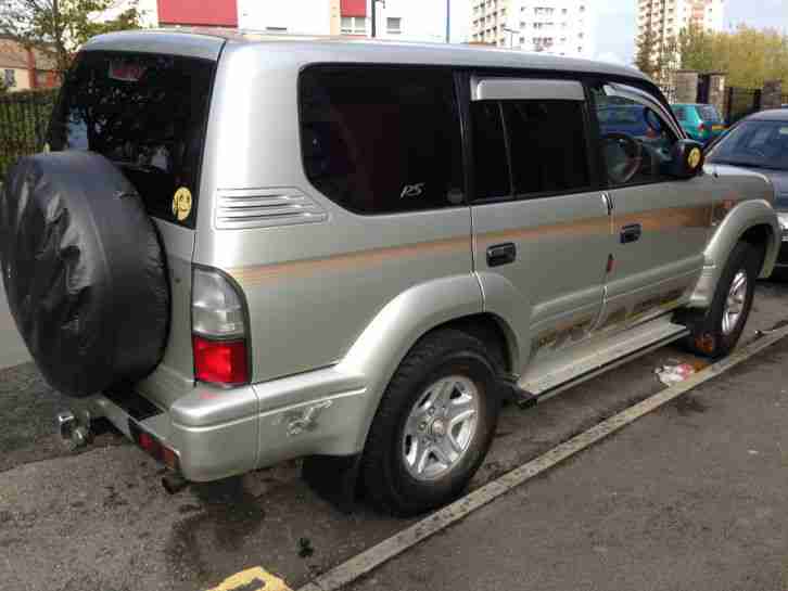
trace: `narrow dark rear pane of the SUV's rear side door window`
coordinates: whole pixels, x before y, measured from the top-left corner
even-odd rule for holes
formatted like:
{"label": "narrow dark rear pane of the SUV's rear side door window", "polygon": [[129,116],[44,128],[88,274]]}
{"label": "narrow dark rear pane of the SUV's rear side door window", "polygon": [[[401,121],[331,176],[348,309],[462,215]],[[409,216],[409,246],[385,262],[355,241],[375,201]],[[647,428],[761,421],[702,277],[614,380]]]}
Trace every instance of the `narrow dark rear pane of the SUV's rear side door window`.
{"label": "narrow dark rear pane of the SUV's rear side door window", "polygon": [[493,101],[471,103],[471,121],[475,197],[511,195],[500,105]]}

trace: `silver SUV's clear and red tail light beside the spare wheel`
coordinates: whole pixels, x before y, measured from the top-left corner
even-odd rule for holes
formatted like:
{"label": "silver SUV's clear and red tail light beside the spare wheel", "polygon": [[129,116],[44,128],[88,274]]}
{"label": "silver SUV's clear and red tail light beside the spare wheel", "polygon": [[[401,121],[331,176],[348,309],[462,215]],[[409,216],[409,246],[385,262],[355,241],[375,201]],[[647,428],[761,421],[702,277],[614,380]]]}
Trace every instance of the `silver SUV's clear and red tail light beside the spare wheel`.
{"label": "silver SUV's clear and red tail light beside the spare wheel", "polygon": [[218,271],[194,268],[192,281],[192,351],[201,382],[249,384],[249,337],[243,296]]}

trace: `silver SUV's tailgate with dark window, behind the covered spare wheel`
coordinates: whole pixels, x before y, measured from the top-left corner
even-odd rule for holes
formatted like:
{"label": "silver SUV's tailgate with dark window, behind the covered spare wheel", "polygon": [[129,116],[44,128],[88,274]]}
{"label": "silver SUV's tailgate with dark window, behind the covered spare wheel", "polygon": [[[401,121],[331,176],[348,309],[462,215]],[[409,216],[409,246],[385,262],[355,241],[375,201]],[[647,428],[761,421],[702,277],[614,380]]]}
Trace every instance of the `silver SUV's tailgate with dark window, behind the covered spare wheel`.
{"label": "silver SUV's tailgate with dark window, behind the covered spare wheel", "polygon": [[162,409],[194,387],[191,265],[201,166],[216,60],[224,39],[136,33],[89,42],[53,114],[49,146],[90,150],[136,187],[167,255],[169,337],[137,389]]}

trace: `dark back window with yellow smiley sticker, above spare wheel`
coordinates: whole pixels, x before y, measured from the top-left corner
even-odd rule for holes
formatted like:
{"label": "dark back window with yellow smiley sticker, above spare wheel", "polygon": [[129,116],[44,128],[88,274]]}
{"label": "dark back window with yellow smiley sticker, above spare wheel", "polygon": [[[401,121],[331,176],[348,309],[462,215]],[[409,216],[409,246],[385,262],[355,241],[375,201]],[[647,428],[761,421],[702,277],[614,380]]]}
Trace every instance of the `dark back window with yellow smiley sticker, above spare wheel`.
{"label": "dark back window with yellow smiley sticker, above spare wheel", "polygon": [[193,228],[214,65],[82,53],[52,118],[51,150],[102,154],[137,188],[151,216]]}

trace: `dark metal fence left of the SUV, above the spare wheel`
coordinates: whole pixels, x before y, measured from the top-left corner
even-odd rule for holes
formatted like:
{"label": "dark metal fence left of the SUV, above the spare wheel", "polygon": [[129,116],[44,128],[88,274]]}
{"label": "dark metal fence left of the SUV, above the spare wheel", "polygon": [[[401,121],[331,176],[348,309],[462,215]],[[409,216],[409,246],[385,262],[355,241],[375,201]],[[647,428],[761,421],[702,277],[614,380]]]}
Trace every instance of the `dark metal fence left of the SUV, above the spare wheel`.
{"label": "dark metal fence left of the SUV, above the spare wheel", "polygon": [[0,181],[22,156],[41,150],[56,90],[0,95]]}

